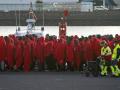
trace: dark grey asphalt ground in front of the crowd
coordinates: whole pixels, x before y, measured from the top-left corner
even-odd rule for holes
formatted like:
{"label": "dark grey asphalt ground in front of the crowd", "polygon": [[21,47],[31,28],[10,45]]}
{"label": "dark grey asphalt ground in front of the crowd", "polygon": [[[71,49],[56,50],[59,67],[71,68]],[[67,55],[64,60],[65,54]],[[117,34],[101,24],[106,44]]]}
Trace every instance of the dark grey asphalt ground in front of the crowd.
{"label": "dark grey asphalt ground in front of the crowd", "polygon": [[120,78],[79,72],[0,72],[0,90],[120,90]]}

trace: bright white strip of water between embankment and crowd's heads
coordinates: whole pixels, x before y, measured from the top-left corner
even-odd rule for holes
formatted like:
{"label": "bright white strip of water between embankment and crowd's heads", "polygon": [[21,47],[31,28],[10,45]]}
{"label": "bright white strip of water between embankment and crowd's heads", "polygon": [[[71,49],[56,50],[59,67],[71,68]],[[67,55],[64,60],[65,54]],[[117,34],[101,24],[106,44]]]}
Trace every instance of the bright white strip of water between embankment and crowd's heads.
{"label": "bright white strip of water between embankment and crowd's heads", "polygon": [[[21,30],[27,29],[26,26],[21,26]],[[41,29],[41,26],[36,26],[36,29]],[[16,32],[16,26],[0,26],[0,36],[7,36]],[[44,35],[59,35],[58,26],[45,26]],[[95,34],[120,34],[120,26],[68,26],[67,35],[89,36]]]}

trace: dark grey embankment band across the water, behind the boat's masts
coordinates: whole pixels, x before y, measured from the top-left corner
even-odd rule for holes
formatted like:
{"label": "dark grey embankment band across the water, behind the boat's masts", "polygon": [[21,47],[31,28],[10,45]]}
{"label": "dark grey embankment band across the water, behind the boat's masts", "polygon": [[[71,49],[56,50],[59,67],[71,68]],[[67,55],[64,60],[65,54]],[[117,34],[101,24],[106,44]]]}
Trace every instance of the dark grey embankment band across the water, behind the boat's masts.
{"label": "dark grey embankment band across the water, behind the boat's masts", "polygon": [[[18,14],[18,12],[17,12]],[[35,12],[36,26],[43,25],[42,12]],[[63,11],[44,11],[44,25],[58,26]],[[21,11],[20,25],[26,26],[28,11]],[[16,26],[15,11],[0,11],[0,26]],[[70,11],[67,17],[68,26],[120,26],[120,10],[99,10],[94,12]]]}

